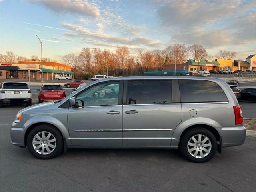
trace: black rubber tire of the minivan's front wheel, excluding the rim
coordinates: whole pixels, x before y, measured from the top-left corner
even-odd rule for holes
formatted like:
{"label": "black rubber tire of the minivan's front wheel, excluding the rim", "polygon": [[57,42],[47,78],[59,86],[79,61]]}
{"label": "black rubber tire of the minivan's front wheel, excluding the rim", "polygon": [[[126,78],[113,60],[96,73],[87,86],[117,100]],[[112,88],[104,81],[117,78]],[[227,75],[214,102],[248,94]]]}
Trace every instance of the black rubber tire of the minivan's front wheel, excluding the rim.
{"label": "black rubber tire of the minivan's front wheel, excluding the rim", "polygon": [[[34,136],[38,132],[42,132],[42,131],[46,131],[46,132],[51,133],[56,139],[56,147],[50,154],[39,154],[38,152],[36,152],[36,150],[33,147],[32,141],[33,141]],[[48,124],[38,125],[35,128],[33,128],[30,131],[30,133],[28,134],[27,146],[28,146],[29,152],[36,158],[39,158],[39,159],[54,158],[54,157],[58,156],[63,150],[62,134],[54,126],[51,126],[51,125],[48,125]]]}

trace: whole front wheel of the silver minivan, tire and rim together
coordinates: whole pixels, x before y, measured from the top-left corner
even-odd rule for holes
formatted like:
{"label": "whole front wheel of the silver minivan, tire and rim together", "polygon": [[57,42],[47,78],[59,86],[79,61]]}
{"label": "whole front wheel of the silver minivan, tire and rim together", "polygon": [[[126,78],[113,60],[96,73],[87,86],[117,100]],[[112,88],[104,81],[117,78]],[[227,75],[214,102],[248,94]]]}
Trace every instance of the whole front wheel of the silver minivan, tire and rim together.
{"label": "whole front wheel of the silver minivan, tire and rim together", "polygon": [[38,125],[28,134],[27,146],[30,153],[36,158],[51,159],[62,151],[62,135],[53,126]]}

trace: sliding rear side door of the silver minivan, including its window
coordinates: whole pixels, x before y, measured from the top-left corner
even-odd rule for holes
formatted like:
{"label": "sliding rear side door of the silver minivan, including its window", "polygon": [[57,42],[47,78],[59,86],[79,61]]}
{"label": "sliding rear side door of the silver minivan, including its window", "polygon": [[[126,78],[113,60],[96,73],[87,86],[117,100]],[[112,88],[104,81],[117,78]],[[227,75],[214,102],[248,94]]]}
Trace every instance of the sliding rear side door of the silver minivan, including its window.
{"label": "sliding rear side door of the silver minivan, including its window", "polygon": [[178,80],[124,81],[123,146],[170,146],[181,122]]}

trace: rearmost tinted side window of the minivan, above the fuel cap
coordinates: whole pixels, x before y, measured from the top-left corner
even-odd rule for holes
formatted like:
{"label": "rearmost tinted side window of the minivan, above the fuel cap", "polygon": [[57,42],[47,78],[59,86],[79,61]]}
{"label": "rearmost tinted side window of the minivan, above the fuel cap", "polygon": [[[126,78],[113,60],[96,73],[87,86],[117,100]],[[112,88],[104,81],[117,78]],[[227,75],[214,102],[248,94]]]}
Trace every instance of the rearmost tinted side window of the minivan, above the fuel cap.
{"label": "rearmost tinted side window of the minivan, above the fuel cap", "polygon": [[182,103],[228,102],[222,88],[206,80],[179,80]]}

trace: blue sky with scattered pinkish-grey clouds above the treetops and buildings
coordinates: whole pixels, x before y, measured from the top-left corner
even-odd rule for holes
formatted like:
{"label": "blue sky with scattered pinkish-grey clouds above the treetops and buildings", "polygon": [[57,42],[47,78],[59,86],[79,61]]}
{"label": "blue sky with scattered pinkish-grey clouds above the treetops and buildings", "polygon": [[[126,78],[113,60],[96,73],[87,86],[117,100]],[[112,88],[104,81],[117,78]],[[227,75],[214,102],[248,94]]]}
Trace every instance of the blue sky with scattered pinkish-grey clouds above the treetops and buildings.
{"label": "blue sky with scattered pinkish-grey clouds above the treetops and buildings", "polygon": [[208,54],[256,54],[256,0],[0,0],[0,53],[63,61],[82,48],[114,51],[200,44]]}

